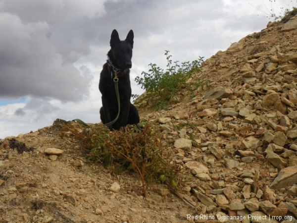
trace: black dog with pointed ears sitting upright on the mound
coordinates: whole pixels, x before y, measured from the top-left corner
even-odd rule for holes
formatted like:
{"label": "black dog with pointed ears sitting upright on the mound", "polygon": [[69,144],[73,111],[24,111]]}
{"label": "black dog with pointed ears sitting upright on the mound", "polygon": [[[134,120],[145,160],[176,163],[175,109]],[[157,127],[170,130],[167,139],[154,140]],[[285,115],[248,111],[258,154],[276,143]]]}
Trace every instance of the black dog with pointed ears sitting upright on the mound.
{"label": "black dog with pointed ears sitting upright on the mound", "polygon": [[119,130],[127,124],[139,123],[139,114],[134,105],[130,103],[131,84],[130,69],[132,67],[133,31],[121,41],[118,32],[114,29],[110,38],[110,51],[107,53],[107,62],[100,73],[99,90],[102,94],[102,108],[100,118],[103,124],[114,120],[118,114],[118,102],[114,87],[114,78],[118,78],[120,97],[120,115],[116,122],[108,126],[110,130]]}

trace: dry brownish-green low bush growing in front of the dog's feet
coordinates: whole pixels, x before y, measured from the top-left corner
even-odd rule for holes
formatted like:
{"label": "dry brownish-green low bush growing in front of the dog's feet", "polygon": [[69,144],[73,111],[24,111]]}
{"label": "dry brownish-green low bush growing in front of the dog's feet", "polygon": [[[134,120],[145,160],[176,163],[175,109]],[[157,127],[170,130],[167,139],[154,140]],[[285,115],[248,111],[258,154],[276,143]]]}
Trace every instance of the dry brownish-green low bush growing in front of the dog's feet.
{"label": "dry brownish-green low bush growing in front of the dog's feet", "polygon": [[161,141],[158,126],[146,123],[142,130],[127,126],[119,131],[110,132],[101,124],[79,131],[73,125],[63,124],[62,137],[74,137],[81,141],[88,157],[95,163],[112,167],[116,171],[135,171],[143,185],[152,180],[176,187],[180,182],[180,167],[172,162],[170,148],[165,148]]}

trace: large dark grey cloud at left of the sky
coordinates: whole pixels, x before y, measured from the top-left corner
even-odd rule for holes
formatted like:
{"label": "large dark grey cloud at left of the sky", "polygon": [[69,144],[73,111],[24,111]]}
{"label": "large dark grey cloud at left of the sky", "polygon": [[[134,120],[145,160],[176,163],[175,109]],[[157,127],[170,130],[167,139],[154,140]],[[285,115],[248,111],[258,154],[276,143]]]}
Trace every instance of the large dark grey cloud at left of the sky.
{"label": "large dark grey cloud at left of the sky", "polygon": [[78,101],[88,94],[88,80],[55,52],[46,22],[24,24],[17,15],[2,12],[0,30],[0,96]]}

